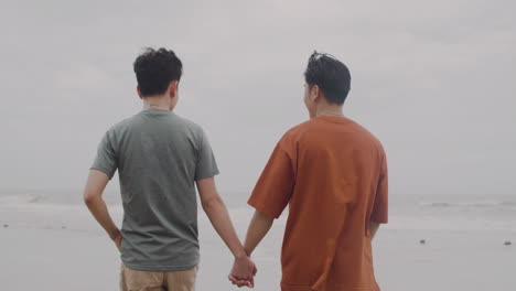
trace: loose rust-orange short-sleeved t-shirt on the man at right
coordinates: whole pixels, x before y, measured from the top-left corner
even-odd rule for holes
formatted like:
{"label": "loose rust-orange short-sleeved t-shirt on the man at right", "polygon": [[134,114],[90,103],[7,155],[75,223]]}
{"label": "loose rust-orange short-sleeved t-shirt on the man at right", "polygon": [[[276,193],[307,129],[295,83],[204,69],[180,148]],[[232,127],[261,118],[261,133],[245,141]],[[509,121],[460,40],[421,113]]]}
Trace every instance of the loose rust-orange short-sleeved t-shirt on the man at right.
{"label": "loose rust-orange short-sleeved t-shirt on the man at right", "polygon": [[387,223],[386,157],[358,123],[318,116],[289,130],[248,203],[276,218],[290,205],[281,290],[379,290],[367,226]]}

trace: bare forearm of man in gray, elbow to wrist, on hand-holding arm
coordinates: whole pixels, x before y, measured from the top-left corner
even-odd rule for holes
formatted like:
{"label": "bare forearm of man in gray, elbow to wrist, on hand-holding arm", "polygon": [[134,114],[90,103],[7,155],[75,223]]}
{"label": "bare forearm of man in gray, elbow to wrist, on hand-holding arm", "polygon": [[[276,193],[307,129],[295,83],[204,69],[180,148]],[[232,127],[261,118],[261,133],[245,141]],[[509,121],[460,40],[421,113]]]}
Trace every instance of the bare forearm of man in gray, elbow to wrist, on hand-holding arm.
{"label": "bare forearm of man in gray, elbow to wrist, on hand-holding arm", "polygon": [[212,222],[213,227],[218,236],[223,239],[224,244],[229,248],[235,258],[246,256],[244,247],[233,227],[229,213],[226,205],[222,200],[215,200],[208,205],[204,206],[204,212]]}

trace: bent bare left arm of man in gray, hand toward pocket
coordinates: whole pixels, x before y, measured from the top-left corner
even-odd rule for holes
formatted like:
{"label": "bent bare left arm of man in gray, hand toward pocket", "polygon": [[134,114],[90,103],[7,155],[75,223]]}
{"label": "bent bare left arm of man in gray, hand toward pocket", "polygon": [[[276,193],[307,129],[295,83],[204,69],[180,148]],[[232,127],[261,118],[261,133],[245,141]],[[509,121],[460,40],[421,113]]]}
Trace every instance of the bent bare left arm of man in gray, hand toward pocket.
{"label": "bent bare left arm of man in gray, hand toward pocket", "polygon": [[101,171],[90,170],[86,187],[84,188],[84,203],[95,219],[106,230],[108,236],[115,241],[118,249],[121,244],[121,233],[109,215],[106,203],[103,200],[103,193],[106,188],[109,177]]}

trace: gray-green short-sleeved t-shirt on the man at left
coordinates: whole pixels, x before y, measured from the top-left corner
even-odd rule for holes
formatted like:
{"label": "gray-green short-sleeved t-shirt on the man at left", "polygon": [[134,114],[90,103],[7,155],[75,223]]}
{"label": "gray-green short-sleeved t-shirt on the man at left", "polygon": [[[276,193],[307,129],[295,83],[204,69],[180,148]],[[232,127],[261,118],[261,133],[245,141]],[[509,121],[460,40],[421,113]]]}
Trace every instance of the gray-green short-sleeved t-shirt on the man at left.
{"label": "gray-green short-sleeved t-shirt on the man at left", "polygon": [[198,263],[194,182],[218,174],[200,126],[168,110],[143,110],[106,132],[92,169],[109,179],[118,169],[127,267],[178,271]]}

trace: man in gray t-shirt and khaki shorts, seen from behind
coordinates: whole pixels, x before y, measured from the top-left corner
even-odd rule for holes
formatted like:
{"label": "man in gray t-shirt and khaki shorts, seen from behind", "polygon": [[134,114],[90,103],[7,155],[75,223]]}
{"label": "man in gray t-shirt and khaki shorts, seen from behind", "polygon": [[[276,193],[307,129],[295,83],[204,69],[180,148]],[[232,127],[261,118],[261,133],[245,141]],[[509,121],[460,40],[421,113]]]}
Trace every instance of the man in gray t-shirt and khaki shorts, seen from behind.
{"label": "man in gray t-shirt and khaki shorts, seen from behind", "polygon": [[[236,258],[230,276],[252,285],[256,267],[234,230],[214,176],[217,164],[203,129],[172,112],[182,63],[165,48],[135,62],[143,110],[111,127],[98,147],[85,203],[121,252],[121,290],[193,290],[200,262],[197,186],[204,211]],[[101,198],[118,170],[121,230]]]}

